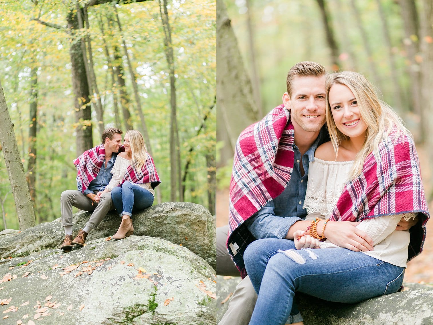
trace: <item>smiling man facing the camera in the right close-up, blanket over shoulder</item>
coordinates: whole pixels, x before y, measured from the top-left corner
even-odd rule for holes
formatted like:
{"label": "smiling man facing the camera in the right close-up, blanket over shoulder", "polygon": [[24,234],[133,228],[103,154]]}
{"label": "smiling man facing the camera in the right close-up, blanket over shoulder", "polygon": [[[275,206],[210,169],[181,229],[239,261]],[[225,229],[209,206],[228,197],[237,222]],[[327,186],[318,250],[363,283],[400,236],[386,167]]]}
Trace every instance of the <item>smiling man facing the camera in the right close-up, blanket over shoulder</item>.
{"label": "smiling man facing the camera in the right close-up, blanket over shoulder", "polygon": [[[230,184],[229,227],[217,235],[217,274],[246,275],[243,252],[259,238],[286,238],[306,229],[310,221],[303,208],[309,162],[317,146],[328,140],[325,123],[325,68],[300,62],[287,75],[283,105],[239,136]],[[372,250],[372,240],[355,228],[357,223],[330,222],[326,236],[334,244],[356,251]],[[406,225],[407,226],[407,225]],[[227,241],[227,250],[224,244]],[[229,251],[230,255],[227,253]],[[248,276],[239,283],[219,325],[248,324],[257,295]],[[301,322],[300,314],[291,315]]]}

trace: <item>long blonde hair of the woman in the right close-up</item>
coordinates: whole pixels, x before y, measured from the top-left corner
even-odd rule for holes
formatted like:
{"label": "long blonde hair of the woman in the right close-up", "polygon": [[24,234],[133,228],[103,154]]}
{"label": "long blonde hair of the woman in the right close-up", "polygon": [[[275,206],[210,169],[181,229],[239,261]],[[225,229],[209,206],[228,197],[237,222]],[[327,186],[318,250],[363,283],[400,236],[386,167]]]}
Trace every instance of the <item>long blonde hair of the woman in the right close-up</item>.
{"label": "long blonde hair of the woman in the right close-up", "polygon": [[[379,157],[379,143],[385,140],[393,127],[396,127],[398,135],[410,136],[410,132],[404,127],[403,121],[397,113],[386,103],[381,101],[374,86],[363,75],[353,71],[342,71],[328,75],[326,78],[326,123],[329,135],[336,155],[343,140],[349,137],[341,133],[334,122],[329,103],[329,91],[334,84],[343,84],[352,91],[359,108],[359,115],[367,125],[364,145],[355,156],[355,162],[349,179],[359,176],[362,172],[364,160],[373,152],[376,159]],[[397,140],[398,136],[395,137]]]}

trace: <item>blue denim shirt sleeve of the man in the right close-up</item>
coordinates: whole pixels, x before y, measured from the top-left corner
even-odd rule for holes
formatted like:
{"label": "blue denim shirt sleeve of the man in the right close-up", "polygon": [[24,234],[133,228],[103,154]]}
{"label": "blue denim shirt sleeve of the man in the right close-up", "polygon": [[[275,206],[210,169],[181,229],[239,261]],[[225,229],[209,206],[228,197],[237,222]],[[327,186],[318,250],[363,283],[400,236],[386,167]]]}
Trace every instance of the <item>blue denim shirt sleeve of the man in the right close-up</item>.
{"label": "blue denim shirt sleeve of the man in the right close-up", "polygon": [[251,218],[245,221],[246,227],[257,239],[286,237],[289,228],[302,220],[299,217],[278,217],[274,214],[274,201],[257,211]]}

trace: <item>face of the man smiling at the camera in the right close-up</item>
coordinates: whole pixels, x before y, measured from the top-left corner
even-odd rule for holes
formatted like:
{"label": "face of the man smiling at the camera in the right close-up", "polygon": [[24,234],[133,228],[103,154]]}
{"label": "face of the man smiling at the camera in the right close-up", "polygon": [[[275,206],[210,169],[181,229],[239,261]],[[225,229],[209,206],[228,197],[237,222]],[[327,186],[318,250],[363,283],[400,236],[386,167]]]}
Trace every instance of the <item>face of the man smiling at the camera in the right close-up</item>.
{"label": "face of the man smiling at the camera in the right close-up", "polygon": [[292,96],[283,95],[284,106],[291,110],[291,121],[296,130],[316,132],[325,124],[325,76],[295,77]]}

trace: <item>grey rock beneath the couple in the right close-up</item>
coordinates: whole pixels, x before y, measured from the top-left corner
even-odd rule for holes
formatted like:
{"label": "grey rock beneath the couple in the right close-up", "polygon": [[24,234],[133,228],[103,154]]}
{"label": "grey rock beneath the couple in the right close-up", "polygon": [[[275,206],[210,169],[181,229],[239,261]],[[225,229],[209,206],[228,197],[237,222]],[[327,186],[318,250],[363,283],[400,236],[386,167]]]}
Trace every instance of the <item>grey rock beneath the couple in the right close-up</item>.
{"label": "grey rock beneath the couple in the right close-up", "polygon": [[[216,319],[226,312],[240,277],[217,276]],[[327,302],[297,294],[304,325],[433,325],[433,286],[404,283],[404,291],[358,304]]]}

